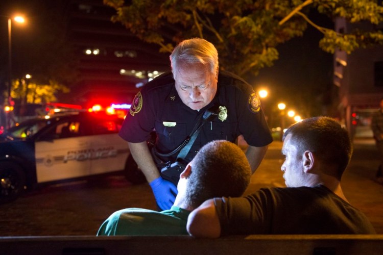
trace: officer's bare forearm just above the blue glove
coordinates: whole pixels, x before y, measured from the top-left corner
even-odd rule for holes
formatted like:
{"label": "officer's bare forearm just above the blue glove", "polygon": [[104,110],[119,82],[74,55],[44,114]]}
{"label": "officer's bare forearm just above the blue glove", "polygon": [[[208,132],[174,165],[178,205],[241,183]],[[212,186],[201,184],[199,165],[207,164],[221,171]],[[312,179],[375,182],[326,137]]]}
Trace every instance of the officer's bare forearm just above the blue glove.
{"label": "officer's bare forearm just above the blue glove", "polygon": [[136,161],[138,167],[145,175],[148,183],[151,183],[154,179],[157,179],[160,176],[159,171],[157,170],[156,164],[153,161],[146,141],[140,143],[128,142],[128,144],[133,159]]}

